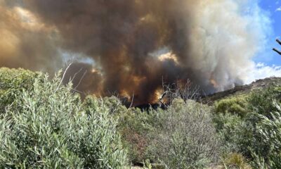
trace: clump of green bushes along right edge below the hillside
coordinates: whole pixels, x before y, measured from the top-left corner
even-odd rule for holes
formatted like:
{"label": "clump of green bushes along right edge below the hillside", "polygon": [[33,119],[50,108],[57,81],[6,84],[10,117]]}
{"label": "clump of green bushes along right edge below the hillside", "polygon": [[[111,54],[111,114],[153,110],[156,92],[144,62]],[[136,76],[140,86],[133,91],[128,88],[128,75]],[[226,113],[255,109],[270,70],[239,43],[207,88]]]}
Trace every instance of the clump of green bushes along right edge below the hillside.
{"label": "clump of green bushes along right edge below the hillside", "polygon": [[280,168],[276,164],[281,161],[281,136],[278,136],[281,125],[275,113],[280,112],[277,106],[281,101],[280,88],[257,89],[246,101],[243,109],[247,113],[244,115],[228,111],[232,104],[222,104],[229,103],[228,100],[216,105],[214,123],[223,139],[225,154],[241,153],[252,160],[254,168]]}

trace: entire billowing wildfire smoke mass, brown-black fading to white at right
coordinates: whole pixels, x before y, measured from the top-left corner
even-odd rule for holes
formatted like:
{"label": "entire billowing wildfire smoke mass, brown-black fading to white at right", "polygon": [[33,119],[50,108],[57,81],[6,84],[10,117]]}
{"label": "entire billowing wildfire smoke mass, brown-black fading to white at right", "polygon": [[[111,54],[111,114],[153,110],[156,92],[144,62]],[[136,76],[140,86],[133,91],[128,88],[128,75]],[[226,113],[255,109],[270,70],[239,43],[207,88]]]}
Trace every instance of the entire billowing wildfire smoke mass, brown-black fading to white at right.
{"label": "entire billowing wildfire smoke mass, brown-black fading to white at right", "polygon": [[96,94],[134,93],[138,103],[155,99],[162,77],[165,82],[190,79],[206,92],[241,84],[261,33],[249,31],[260,16],[244,15],[245,1],[0,3],[0,42],[9,39],[0,44],[0,65],[54,71],[64,53],[82,55],[93,62],[72,65],[67,77],[76,73],[74,86]]}

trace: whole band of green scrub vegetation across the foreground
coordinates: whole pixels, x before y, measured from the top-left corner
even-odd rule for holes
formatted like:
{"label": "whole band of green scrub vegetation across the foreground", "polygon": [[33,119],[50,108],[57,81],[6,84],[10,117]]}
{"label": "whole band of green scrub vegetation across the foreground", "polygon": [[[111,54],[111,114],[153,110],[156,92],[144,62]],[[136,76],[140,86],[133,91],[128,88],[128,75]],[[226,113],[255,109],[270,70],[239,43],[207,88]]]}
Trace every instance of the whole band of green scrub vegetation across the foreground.
{"label": "whole band of green scrub vegetation across the foreground", "polygon": [[60,77],[0,69],[0,168],[281,168],[281,82],[141,110]]}

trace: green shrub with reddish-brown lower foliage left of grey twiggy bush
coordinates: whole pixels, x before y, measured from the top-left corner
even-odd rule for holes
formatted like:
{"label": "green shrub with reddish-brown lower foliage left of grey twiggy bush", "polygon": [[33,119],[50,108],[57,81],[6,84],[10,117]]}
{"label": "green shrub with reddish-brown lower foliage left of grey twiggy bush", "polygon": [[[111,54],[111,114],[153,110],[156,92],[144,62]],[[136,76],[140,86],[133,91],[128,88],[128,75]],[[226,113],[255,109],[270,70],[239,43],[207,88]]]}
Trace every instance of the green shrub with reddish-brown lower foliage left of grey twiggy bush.
{"label": "green shrub with reddish-brown lower foliage left of grey twiggy bush", "polygon": [[[84,106],[107,106],[110,115],[118,121],[117,130],[122,136],[122,144],[129,149],[129,159],[133,163],[141,163],[149,158],[146,151],[149,144],[150,130],[155,122],[155,113],[141,111],[139,108],[126,108],[115,96],[97,99],[95,96],[87,96]],[[88,110],[86,110],[88,112]]]}

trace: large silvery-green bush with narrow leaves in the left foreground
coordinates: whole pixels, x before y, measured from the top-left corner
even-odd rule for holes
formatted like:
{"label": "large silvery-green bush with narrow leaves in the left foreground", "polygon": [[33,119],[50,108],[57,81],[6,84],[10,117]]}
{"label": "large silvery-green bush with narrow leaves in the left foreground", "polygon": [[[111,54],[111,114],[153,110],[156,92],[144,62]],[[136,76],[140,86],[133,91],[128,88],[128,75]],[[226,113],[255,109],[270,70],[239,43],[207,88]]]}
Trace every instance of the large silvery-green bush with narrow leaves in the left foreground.
{"label": "large silvery-green bush with narrow leaves in the left foreground", "polygon": [[0,119],[0,168],[126,168],[116,121],[40,75]]}

